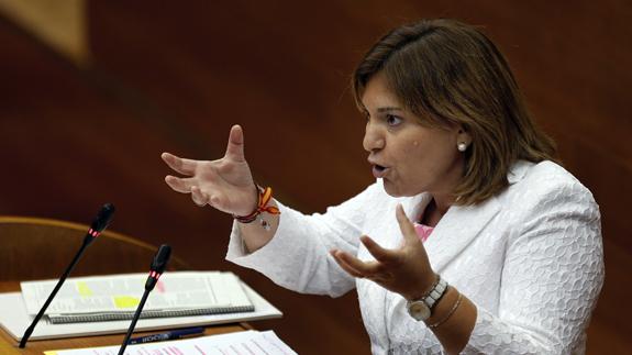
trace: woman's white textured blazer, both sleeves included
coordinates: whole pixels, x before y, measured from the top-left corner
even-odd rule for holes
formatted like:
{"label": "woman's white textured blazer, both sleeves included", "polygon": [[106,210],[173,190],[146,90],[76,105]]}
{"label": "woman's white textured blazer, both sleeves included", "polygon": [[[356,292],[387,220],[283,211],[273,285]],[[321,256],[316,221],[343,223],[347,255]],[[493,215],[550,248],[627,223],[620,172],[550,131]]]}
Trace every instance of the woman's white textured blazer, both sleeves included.
{"label": "woman's white textured blazer, both sleeves included", "polygon": [[[477,307],[466,354],[583,354],[585,330],[603,282],[599,208],[575,177],[551,162],[517,163],[510,186],[474,207],[453,206],[424,243],[431,265]],[[324,214],[280,206],[273,240],[245,254],[233,226],[226,258],[307,293],[341,296],[357,288],[374,354],[440,354],[406,300],[355,279],[330,256],[344,249],[373,257],[363,234],[385,247],[401,243],[395,208],[417,219],[431,197],[388,196],[381,181]]]}

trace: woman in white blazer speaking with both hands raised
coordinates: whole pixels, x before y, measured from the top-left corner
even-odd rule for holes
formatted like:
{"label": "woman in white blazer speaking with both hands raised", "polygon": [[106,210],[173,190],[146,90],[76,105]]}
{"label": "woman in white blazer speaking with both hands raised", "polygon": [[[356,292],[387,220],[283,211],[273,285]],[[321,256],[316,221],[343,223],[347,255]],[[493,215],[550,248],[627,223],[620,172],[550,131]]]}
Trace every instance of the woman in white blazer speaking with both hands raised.
{"label": "woman in white blazer speaking with both hands raised", "polygon": [[242,127],[224,157],[163,154],[198,206],[235,222],[228,259],[298,292],[357,289],[374,354],[576,354],[603,281],[599,208],[554,163],[503,56],[423,20],[353,75],[375,184],[306,215],[256,186]]}

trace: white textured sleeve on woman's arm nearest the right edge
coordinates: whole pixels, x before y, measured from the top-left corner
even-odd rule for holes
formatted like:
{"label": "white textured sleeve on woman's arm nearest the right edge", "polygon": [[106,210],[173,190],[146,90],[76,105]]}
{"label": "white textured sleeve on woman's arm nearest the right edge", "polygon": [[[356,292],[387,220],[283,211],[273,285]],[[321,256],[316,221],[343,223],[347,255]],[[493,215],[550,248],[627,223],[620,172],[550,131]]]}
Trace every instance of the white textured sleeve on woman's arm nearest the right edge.
{"label": "white textured sleeve on woman's arm nearest the right edge", "polygon": [[532,182],[513,201],[533,202],[508,240],[498,314],[478,307],[466,354],[583,353],[603,282],[599,208],[577,180]]}

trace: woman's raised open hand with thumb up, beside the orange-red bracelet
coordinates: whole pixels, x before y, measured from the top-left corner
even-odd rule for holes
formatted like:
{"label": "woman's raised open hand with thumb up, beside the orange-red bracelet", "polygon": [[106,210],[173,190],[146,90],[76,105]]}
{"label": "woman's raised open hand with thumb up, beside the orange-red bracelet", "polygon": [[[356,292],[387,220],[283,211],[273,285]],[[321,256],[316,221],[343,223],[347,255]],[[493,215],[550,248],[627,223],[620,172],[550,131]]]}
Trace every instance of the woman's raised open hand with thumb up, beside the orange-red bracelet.
{"label": "woman's raised open hand with thumb up, beside the orange-red bracelet", "polygon": [[248,215],[256,209],[258,191],[244,157],[241,126],[231,127],[226,153],[221,159],[185,159],[169,153],[163,153],[160,157],[171,169],[184,175],[167,175],[167,185],[178,192],[191,193],[196,204],[210,204],[235,215]]}

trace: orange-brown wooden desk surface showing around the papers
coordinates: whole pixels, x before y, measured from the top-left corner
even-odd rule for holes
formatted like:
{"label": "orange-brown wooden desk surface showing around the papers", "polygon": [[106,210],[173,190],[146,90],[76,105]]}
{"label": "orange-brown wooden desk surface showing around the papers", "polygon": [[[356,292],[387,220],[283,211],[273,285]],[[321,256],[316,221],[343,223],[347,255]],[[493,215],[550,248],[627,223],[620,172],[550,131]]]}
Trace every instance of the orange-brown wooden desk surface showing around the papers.
{"label": "orange-brown wooden desk surface showing around the papers", "polygon": [[[1,281],[0,292],[14,292],[20,290],[19,281]],[[207,326],[204,334],[222,334],[241,332],[252,329],[247,323],[233,323],[224,325]],[[160,332],[140,332],[134,336],[143,336]],[[125,334],[67,337],[46,341],[33,341],[26,343],[25,348],[19,348],[18,342],[0,329],[0,354],[43,354],[44,351],[60,348],[79,348],[92,346],[119,345],[123,342]]]}

